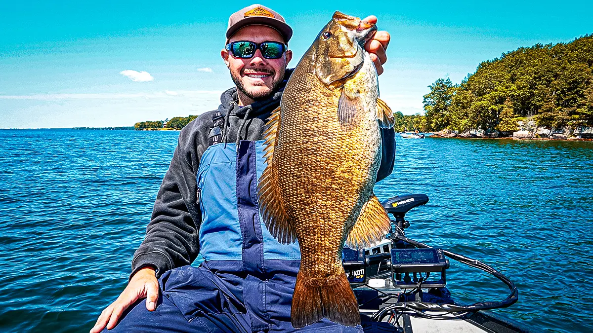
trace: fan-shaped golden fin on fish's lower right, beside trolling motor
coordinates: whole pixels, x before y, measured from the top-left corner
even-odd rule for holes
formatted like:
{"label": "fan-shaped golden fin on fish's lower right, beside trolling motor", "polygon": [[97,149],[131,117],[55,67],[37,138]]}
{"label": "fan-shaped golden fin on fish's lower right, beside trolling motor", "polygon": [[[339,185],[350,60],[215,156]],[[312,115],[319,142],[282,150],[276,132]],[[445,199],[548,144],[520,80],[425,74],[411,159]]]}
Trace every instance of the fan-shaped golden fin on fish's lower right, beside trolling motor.
{"label": "fan-shaped golden fin on fish's lower right, beside trolling motor", "polygon": [[375,194],[371,194],[369,201],[366,201],[362,206],[358,220],[350,230],[346,245],[353,249],[371,246],[382,241],[389,230],[391,230],[389,216]]}

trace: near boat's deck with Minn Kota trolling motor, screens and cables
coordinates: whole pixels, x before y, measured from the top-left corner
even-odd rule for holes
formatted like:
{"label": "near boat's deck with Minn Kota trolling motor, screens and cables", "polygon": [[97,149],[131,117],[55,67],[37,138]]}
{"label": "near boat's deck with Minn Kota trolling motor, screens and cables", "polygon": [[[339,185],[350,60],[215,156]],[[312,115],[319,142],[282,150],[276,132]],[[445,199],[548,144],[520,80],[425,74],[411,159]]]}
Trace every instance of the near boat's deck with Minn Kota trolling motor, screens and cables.
{"label": "near boat's deck with Minn Kota trolling motor, screens and cables", "polygon": [[[426,194],[406,194],[382,201],[393,214],[391,232],[364,249],[344,246],[342,263],[358,299],[365,333],[528,333],[524,325],[502,318],[492,309],[518,300],[518,289],[502,273],[479,260],[433,248],[407,238],[409,210],[428,203]],[[449,259],[486,271],[503,281],[510,294],[500,301],[462,305],[447,289]]]}

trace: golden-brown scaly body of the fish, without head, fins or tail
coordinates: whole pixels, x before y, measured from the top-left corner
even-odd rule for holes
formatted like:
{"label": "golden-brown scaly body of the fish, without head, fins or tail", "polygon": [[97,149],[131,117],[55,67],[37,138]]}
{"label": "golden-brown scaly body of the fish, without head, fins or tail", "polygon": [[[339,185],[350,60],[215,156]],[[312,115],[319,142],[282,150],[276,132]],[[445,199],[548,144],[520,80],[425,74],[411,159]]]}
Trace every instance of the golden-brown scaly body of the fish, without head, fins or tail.
{"label": "golden-brown scaly body of the fish, without head, fins or tail", "polygon": [[[275,150],[279,187],[289,216],[294,216],[301,246],[301,272],[323,276],[343,273],[341,251],[374,185],[381,159],[375,114],[345,131],[337,117],[339,91],[329,91],[311,66],[297,66],[280,105],[280,135]],[[371,71],[372,70],[372,71]],[[376,108],[372,62],[350,79],[374,82],[367,108]],[[333,222],[333,223],[332,223]],[[323,246],[320,246],[323,245]]]}

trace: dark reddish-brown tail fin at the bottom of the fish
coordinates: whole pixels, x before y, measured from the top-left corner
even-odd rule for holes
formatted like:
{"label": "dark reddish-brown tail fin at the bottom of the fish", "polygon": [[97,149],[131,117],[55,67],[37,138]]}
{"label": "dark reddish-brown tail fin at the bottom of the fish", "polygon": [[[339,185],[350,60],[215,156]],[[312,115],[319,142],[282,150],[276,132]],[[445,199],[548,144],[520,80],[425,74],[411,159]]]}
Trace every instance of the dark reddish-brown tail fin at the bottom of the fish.
{"label": "dark reddish-brown tail fin at the bottom of the fish", "polygon": [[292,326],[302,328],[321,318],[346,326],[361,324],[358,302],[346,274],[314,281],[299,271],[292,296]]}

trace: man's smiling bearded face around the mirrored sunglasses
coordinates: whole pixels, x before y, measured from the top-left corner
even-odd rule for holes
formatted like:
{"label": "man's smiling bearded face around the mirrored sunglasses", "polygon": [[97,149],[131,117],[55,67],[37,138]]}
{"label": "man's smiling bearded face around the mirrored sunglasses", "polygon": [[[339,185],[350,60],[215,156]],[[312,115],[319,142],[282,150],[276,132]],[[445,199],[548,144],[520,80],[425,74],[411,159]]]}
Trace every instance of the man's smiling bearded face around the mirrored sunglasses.
{"label": "man's smiling bearded face around the mirrored sunglasses", "polygon": [[[285,42],[277,30],[266,25],[247,25],[232,35],[228,42],[238,40],[256,43]],[[266,59],[259,49],[249,59],[234,57],[232,52],[225,49],[221,51],[221,56],[231,71],[231,78],[237,89],[251,100],[258,100],[272,95],[278,89],[284,78],[286,65],[292,59],[292,51],[286,51],[279,59]]]}

